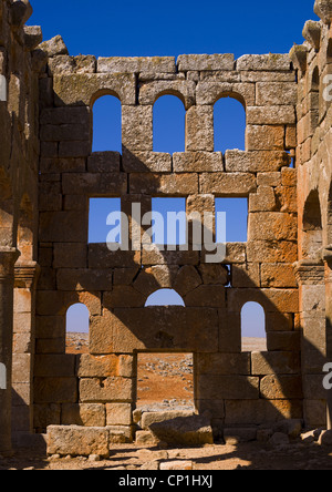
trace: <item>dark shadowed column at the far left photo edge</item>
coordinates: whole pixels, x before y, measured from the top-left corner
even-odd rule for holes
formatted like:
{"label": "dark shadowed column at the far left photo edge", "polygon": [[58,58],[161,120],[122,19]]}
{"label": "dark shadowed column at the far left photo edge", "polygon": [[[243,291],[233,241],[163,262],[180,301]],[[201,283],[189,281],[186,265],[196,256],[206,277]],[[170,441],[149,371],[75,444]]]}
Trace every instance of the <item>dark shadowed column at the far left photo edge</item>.
{"label": "dark shadowed column at the far left photo edge", "polygon": [[0,388],[0,454],[11,454],[11,373],[15,248],[0,247],[0,365],[6,388]]}

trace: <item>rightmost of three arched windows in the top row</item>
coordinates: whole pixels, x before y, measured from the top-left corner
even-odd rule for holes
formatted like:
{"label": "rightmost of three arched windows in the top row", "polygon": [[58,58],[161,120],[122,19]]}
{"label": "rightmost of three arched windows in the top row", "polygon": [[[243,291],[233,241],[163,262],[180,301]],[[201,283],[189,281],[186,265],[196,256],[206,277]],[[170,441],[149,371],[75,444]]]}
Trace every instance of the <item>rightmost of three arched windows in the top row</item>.
{"label": "rightmost of three arched windows in the top row", "polygon": [[234,98],[222,98],[215,104],[215,152],[246,150],[246,111]]}

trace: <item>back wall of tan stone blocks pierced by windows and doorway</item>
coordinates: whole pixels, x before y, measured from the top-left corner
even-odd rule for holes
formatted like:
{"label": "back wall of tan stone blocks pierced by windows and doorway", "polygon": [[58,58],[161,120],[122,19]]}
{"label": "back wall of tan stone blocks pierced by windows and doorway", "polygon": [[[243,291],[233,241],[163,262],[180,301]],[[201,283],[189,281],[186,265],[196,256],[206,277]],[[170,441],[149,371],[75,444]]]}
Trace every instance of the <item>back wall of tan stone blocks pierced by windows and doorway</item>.
{"label": "back wall of tan stone blocks pierced by windows and doorway", "polygon": [[[225,426],[302,418],[298,260],[298,88],[289,55],[70,57],[60,38],[40,79],[39,263],[34,427],[125,426],[136,406],[137,353],[194,353],[195,403]],[[122,103],[122,155],[92,153],[93,104]],[[165,94],[186,107],[186,151],[153,148],[153,107]],[[214,152],[214,104],[239,100],[246,150]],[[89,198],[185,197],[187,212],[216,197],[247,197],[248,242],[225,265],[205,252],[116,252],[87,244]],[[230,283],[230,284],[229,284]],[[230,286],[229,286],[230,285]],[[174,288],[185,308],[146,308]],[[261,304],[268,351],[241,352],[241,308]],[[65,314],[90,310],[90,353],[65,355]]]}

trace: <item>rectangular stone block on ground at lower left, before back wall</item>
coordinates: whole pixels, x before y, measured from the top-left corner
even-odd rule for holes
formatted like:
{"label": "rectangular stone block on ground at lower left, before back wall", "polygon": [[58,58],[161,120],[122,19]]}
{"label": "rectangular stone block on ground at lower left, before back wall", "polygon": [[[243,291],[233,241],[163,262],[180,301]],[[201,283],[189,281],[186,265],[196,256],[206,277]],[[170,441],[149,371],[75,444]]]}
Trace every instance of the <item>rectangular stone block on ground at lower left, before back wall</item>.
{"label": "rectangular stone block on ground at lower left, before back wall", "polygon": [[110,457],[110,432],[105,428],[50,426],[48,454]]}

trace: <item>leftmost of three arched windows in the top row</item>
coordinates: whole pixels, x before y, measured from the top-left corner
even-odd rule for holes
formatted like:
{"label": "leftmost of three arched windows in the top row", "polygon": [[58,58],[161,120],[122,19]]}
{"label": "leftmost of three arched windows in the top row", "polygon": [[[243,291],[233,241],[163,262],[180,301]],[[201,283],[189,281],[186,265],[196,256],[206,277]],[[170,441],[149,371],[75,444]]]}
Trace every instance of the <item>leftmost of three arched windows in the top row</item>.
{"label": "leftmost of three arched windows in the top row", "polygon": [[92,151],[122,153],[122,107],[113,95],[104,95],[93,105]]}

